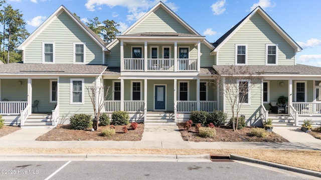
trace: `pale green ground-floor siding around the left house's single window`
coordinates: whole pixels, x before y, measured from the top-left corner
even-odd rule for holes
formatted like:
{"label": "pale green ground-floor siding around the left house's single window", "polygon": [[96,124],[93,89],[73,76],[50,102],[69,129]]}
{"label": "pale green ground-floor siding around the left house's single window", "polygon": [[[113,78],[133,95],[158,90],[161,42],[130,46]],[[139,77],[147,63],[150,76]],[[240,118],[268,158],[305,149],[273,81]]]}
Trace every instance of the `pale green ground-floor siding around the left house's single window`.
{"label": "pale green ground-floor siding around the left house's single window", "polygon": [[[70,104],[70,79],[84,79],[84,104]],[[94,114],[86,86],[95,86],[95,77],[59,78],[59,113],[61,121],[69,121],[70,116],[78,113]]]}

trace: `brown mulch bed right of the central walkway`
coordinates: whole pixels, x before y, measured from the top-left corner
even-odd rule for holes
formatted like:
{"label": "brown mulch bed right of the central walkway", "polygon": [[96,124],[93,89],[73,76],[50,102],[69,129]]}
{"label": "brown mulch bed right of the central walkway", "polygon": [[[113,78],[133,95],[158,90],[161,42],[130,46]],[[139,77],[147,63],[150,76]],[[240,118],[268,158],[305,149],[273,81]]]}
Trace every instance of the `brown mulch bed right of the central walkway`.
{"label": "brown mulch bed right of the central walkway", "polygon": [[210,137],[200,137],[197,135],[195,126],[192,126],[189,130],[184,129],[184,123],[179,123],[180,132],[182,138],[187,141],[224,141],[224,142],[288,142],[282,136],[274,133],[268,132],[267,137],[251,137],[248,132],[254,127],[244,127],[233,131],[228,126],[215,127],[216,136],[214,138]]}

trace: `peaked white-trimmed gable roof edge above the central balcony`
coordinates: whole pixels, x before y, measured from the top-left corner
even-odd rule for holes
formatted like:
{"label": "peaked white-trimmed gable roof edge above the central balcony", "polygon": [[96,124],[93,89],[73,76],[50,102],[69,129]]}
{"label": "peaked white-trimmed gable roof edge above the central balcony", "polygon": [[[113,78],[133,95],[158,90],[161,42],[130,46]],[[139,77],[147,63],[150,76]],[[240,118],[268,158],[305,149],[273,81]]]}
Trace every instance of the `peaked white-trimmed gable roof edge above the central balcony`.
{"label": "peaked white-trimmed gable roof edge above the central balcony", "polygon": [[[155,10],[157,10],[158,8],[163,8],[166,12],[168,12],[172,17],[174,17],[180,24],[182,24],[188,31],[190,31],[192,34],[191,37],[194,36],[198,36],[198,37],[203,37],[201,34],[199,34],[194,28],[192,28],[188,23],[186,23],[180,16],[178,16],[173,10],[171,10],[167,5],[165,5],[164,2],[159,1],[156,5],[154,5],[151,9],[149,9],[144,15],[142,15],[138,20],[136,20],[131,26],[129,26],[125,31],[123,31],[118,37],[121,36],[137,36],[137,34],[128,34],[127,33],[132,30],[133,28],[135,28],[140,22],[142,22],[144,19],[146,19],[152,12],[154,12]],[[150,34],[148,34],[150,33]],[[145,32],[142,33],[145,36],[152,36],[151,34],[155,33],[155,32]],[[156,32],[157,35],[162,35],[159,33],[164,33],[164,32]],[[171,32],[169,32],[171,33]],[[142,35],[141,34],[141,35]],[[180,34],[180,33],[177,33]],[[167,34],[169,35],[169,34]],[[114,39],[113,41],[111,41],[106,47],[108,48],[109,46],[113,45],[114,43],[116,43],[118,41],[117,37],[116,39]],[[205,38],[203,39],[204,44],[206,44],[209,48],[214,48],[213,44],[210,43],[209,41],[207,41]]]}

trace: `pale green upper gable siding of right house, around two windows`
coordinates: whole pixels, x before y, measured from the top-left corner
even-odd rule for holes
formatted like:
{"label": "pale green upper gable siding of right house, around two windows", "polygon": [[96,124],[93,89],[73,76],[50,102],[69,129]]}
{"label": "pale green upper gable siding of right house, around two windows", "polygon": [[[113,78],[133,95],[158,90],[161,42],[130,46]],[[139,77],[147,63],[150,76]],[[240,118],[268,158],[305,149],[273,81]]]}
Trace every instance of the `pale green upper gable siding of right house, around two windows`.
{"label": "pale green upper gable siding of right house, around two windows", "polygon": [[220,48],[220,65],[235,63],[235,44],[247,44],[248,65],[265,65],[265,44],[278,44],[278,65],[294,65],[294,48],[258,13]]}

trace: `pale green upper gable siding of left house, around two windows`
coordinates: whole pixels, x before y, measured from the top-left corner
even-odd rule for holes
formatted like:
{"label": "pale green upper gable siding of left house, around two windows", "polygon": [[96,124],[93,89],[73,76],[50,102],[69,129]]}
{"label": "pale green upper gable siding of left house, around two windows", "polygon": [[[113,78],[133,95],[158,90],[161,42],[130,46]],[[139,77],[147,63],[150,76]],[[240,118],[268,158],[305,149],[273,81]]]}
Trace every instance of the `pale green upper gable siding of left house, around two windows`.
{"label": "pale green upper gable siding of left house, around two windows", "polygon": [[73,63],[73,42],[86,44],[86,63],[103,63],[102,48],[65,12],[28,44],[24,51],[25,63],[42,63],[42,42],[55,43],[55,63]]}

